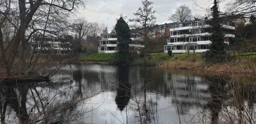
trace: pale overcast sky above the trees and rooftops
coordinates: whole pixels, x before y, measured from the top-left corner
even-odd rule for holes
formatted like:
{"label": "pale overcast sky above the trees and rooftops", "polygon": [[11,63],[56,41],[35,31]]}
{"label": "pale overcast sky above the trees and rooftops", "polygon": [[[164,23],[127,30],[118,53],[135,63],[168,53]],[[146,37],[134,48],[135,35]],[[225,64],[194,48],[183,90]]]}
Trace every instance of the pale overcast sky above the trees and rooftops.
{"label": "pale overcast sky above the trees and rooftops", "polygon": [[[156,10],[156,24],[170,22],[168,17],[175,12],[177,7],[185,4],[192,10],[193,15],[205,16],[205,8],[212,6],[213,0],[151,0]],[[196,5],[196,4],[198,5]],[[224,9],[221,3],[221,9]],[[86,0],[86,8],[79,9],[76,17],[84,17],[90,22],[104,23],[111,30],[120,15],[134,18],[133,13],[138,10],[141,0]]]}

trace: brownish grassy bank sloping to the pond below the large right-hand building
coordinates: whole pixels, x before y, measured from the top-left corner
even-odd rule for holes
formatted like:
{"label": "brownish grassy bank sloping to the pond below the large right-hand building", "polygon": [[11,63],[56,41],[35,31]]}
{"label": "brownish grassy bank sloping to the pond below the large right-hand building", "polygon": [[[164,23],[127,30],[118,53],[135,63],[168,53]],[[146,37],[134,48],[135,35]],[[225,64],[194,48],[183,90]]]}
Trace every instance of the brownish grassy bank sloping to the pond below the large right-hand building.
{"label": "brownish grassy bank sloping to the pond below the large right-hand building", "polygon": [[[245,56],[244,56],[245,55]],[[223,63],[206,63],[203,54],[174,54],[172,59],[157,65],[162,68],[194,70],[196,72],[256,74],[256,55],[248,53]]]}

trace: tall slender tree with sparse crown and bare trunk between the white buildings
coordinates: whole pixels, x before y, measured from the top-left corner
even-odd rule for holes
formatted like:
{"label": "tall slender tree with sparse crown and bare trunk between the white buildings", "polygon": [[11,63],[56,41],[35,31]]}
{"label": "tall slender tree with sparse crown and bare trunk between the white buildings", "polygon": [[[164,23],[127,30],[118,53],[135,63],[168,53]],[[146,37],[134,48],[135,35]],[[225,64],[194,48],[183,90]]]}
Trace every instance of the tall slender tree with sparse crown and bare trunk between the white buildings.
{"label": "tall slender tree with sparse crown and bare trunk between the white buildings", "polygon": [[148,40],[148,33],[149,33],[149,27],[153,26],[156,22],[155,13],[156,10],[153,10],[152,6],[153,2],[144,0],[142,1],[142,7],[138,8],[137,12],[134,13],[136,16],[135,19],[132,19],[134,22],[138,22],[140,26],[143,28],[143,40],[144,40],[144,66],[147,65],[147,40]]}

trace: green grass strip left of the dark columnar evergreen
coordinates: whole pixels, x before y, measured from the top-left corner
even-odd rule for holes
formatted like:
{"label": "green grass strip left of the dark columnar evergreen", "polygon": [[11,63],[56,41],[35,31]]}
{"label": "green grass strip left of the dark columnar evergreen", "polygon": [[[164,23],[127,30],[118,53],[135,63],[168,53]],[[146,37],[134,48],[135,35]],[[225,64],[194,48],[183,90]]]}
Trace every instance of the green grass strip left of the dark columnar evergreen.
{"label": "green grass strip left of the dark columnar evergreen", "polygon": [[113,59],[115,59],[115,54],[113,53],[81,54],[79,56],[79,61],[111,61]]}

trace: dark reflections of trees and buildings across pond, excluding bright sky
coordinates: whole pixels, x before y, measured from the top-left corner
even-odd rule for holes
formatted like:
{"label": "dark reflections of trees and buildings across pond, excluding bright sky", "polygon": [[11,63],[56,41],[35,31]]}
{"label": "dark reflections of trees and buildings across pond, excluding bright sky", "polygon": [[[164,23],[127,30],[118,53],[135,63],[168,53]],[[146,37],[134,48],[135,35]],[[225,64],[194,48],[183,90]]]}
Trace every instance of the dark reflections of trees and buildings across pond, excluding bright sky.
{"label": "dark reflections of trees and buildings across pond, excluding bright sky", "polygon": [[[145,73],[140,67],[134,69],[121,66],[114,69],[115,71],[111,72],[90,72],[81,69],[61,76],[57,74],[54,79],[58,82],[55,81],[54,84],[20,84],[18,87],[1,85],[1,122],[4,118],[7,121],[10,113],[19,115],[17,117],[20,123],[35,120],[42,120],[38,121],[41,123],[68,123],[73,120],[77,122],[86,111],[77,110],[77,104],[74,102],[88,96],[88,93],[93,93],[96,88],[109,89],[112,82],[120,82],[115,97],[118,109],[124,111],[131,98],[140,96],[144,123],[154,123],[152,121],[157,120],[159,102],[156,99],[159,96],[171,96],[171,104],[177,106],[175,109],[181,116],[191,114],[191,108],[198,108],[198,113],[208,118],[205,123],[222,123],[224,117],[226,120],[223,123],[255,123],[254,84],[231,85],[230,79],[225,81],[222,77],[202,79],[186,74],[168,74],[155,68],[148,68]],[[144,88],[146,90],[143,90]],[[132,103],[134,104],[134,101]],[[136,115],[138,118],[137,113]],[[228,116],[232,118],[227,118]],[[19,122],[14,118],[12,120],[14,123]]]}

